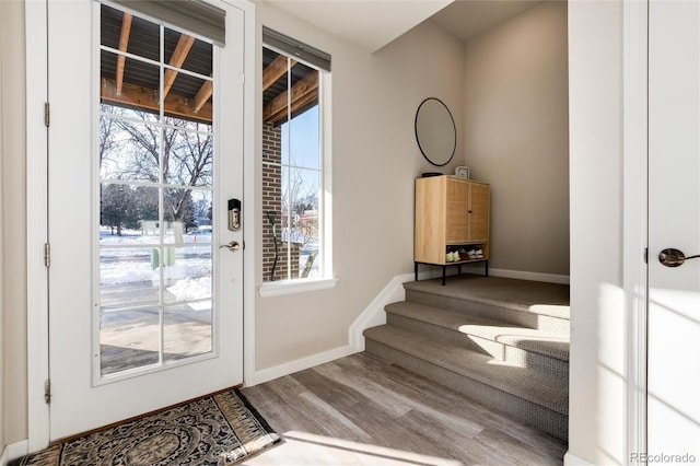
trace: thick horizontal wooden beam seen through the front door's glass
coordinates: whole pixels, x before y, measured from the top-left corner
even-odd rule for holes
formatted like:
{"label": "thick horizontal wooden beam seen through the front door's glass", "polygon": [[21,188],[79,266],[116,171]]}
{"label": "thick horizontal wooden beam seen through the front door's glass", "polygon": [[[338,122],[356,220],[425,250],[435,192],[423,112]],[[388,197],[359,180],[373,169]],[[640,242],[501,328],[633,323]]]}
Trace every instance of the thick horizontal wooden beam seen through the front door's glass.
{"label": "thick horizontal wooden beam seen through the front door's glass", "polygon": [[[116,93],[115,80],[103,78],[101,84],[100,96],[105,102],[128,107],[143,108],[153,113],[158,113],[160,110],[158,90],[155,89],[148,89],[125,82],[122,84],[122,92],[118,95]],[[203,103],[199,112],[195,112],[191,104],[191,98],[176,94],[167,95],[164,98],[165,115],[210,124],[212,115],[211,103]]]}

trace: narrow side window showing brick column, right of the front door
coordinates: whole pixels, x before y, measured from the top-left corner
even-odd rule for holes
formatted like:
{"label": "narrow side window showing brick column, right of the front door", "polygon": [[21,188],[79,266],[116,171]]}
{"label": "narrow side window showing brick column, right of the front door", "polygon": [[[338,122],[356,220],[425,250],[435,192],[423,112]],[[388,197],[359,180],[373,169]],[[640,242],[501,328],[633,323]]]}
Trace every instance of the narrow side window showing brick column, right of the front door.
{"label": "narrow side window showing brick column, right of the front door", "polygon": [[330,272],[324,251],[329,174],[320,91],[330,60],[327,69],[303,60],[291,48],[299,43],[269,30],[264,40],[262,279],[324,278]]}

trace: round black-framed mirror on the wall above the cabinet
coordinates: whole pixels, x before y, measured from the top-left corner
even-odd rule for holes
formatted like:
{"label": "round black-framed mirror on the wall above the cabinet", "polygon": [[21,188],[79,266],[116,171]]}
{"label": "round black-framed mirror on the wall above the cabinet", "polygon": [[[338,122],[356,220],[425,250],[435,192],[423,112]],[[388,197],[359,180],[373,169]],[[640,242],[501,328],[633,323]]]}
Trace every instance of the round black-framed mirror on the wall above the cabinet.
{"label": "round black-framed mirror on the wall above the cabinet", "polygon": [[450,108],[442,101],[429,97],[416,112],[416,140],[428,162],[445,165],[455,154],[457,129]]}

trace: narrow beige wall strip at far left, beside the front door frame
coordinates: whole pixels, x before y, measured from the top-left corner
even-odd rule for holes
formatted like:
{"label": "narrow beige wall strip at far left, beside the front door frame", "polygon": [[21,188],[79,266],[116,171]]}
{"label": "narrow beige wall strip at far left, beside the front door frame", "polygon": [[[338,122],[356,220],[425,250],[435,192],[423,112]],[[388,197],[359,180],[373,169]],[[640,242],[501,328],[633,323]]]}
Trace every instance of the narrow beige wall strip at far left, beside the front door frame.
{"label": "narrow beige wall strip at far left, beside the front door frame", "polygon": [[0,2],[0,454],[26,439],[24,2]]}

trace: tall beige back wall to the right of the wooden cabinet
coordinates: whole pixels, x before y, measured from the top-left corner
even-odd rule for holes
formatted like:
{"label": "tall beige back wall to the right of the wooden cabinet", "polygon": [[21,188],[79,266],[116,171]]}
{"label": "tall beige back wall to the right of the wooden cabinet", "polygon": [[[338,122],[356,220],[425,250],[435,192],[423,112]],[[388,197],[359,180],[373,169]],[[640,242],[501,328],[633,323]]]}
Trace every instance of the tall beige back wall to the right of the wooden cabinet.
{"label": "tall beige back wall to the right of the wooden cabinet", "polygon": [[569,275],[567,2],[465,48],[465,162],[491,184],[494,269]]}

